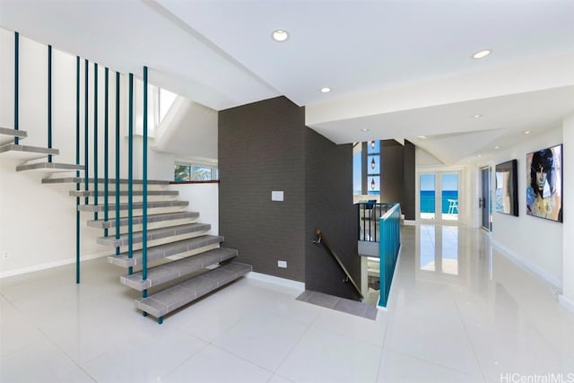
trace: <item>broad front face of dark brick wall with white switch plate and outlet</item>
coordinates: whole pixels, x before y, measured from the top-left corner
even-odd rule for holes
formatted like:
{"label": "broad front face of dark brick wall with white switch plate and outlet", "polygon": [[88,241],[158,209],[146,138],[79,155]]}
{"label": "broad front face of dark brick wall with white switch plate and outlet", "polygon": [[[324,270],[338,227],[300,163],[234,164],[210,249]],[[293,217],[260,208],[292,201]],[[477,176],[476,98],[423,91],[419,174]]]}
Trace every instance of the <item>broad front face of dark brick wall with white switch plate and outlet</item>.
{"label": "broad front face of dark brick wall with white switch plate and outlet", "polygon": [[[305,110],[279,97],[219,112],[219,230],[257,273],[304,282]],[[271,200],[283,191],[284,201]],[[287,261],[279,268],[278,260]]]}

